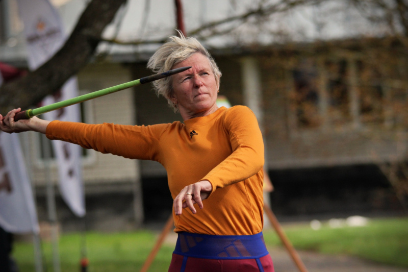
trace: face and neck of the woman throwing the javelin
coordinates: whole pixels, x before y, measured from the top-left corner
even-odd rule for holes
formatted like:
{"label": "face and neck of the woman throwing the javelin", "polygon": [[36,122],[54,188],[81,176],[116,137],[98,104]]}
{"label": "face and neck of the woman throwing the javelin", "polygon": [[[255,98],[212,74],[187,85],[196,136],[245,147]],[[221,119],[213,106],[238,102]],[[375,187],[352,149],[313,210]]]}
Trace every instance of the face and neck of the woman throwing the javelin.
{"label": "face and neck of the woman throwing the javelin", "polygon": [[171,69],[191,66],[190,69],[173,75],[173,97],[184,120],[206,116],[217,107],[218,84],[211,69],[210,60],[201,53],[177,63]]}

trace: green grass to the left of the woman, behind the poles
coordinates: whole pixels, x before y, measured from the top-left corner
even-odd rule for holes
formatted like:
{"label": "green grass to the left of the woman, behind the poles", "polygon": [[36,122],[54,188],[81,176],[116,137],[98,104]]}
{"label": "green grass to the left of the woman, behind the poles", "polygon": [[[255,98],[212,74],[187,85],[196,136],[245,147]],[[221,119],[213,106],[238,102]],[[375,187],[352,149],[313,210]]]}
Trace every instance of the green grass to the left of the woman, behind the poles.
{"label": "green grass to the left of the woman, behind the poles", "polygon": [[[86,249],[89,272],[139,271],[156,242],[156,235],[148,231],[129,233],[86,234]],[[61,271],[80,271],[80,234],[64,234],[59,240]],[[47,270],[53,271],[52,245],[42,243]],[[167,271],[174,250],[173,245],[164,244],[151,264],[149,271]],[[35,271],[34,250],[31,242],[16,242],[13,256],[20,271]]]}

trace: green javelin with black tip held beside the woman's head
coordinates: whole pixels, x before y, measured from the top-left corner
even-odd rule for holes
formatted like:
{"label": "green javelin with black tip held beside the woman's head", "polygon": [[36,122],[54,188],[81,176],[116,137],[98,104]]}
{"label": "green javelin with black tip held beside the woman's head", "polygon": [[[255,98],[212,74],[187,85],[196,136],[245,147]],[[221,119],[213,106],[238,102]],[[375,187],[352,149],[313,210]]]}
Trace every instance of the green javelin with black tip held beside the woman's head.
{"label": "green javelin with black tip held beside the woman's head", "polygon": [[87,93],[87,94],[84,94],[84,95],[80,95],[80,96],[77,96],[77,97],[73,97],[73,98],[70,98],[70,99],[67,99],[67,100],[64,100],[64,101],[60,101],[60,102],[57,102],[57,103],[54,103],[54,104],[43,106],[43,107],[40,107],[40,108],[37,108],[37,109],[34,109],[34,110],[21,111],[21,112],[17,113],[14,116],[14,121],[16,122],[16,121],[21,120],[21,119],[30,119],[30,118],[32,118],[34,116],[41,115],[41,114],[49,112],[49,111],[54,111],[54,110],[58,110],[58,109],[61,109],[61,108],[65,108],[65,107],[68,107],[68,106],[71,106],[71,105],[74,105],[74,104],[78,104],[78,103],[81,103],[81,102],[91,100],[91,99],[96,98],[96,97],[100,97],[100,96],[104,96],[104,95],[107,95],[107,94],[110,94],[110,93],[121,91],[121,90],[130,88],[130,87],[139,85],[139,84],[144,84],[144,83],[152,82],[152,81],[155,81],[155,80],[158,80],[158,79],[166,78],[166,77],[169,77],[171,75],[174,75],[175,73],[183,72],[183,71],[188,70],[190,68],[191,68],[191,66],[186,66],[186,67],[181,67],[181,68],[177,68],[177,69],[173,69],[173,70],[168,70],[167,72],[157,73],[156,75],[151,75],[151,76],[148,76],[148,77],[144,77],[144,78],[137,79],[137,80],[130,81],[130,82],[126,82],[126,83],[122,83],[122,84],[112,86],[112,87],[109,87],[109,88],[106,88],[106,89],[102,89],[102,90],[99,90],[99,91],[94,91],[94,92]]}

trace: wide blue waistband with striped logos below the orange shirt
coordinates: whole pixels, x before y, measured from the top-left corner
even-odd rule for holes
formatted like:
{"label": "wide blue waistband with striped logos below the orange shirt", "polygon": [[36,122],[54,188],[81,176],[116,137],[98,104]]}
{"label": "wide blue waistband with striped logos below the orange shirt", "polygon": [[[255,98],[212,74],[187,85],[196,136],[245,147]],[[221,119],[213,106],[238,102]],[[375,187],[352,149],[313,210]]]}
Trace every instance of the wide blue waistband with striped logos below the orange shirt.
{"label": "wide blue waistband with striped logos below the orange shirt", "polygon": [[254,235],[207,235],[180,232],[174,254],[201,259],[257,259],[268,255],[262,232]]}

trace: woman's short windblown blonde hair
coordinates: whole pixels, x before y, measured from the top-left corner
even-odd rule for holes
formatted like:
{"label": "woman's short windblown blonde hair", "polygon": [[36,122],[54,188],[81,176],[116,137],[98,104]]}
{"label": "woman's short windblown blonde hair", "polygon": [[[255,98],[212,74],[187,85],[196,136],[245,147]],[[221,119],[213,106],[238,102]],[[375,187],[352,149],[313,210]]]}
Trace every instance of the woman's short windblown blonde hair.
{"label": "woman's short windblown blonde hair", "polygon": [[[162,73],[170,70],[174,65],[180,63],[195,53],[200,53],[206,56],[213,70],[215,81],[219,86],[221,71],[215,63],[213,57],[208,53],[207,49],[193,37],[184,37],[183,33],[179,32],[180,37],[169,36],[169,41],[159,47],[153,56],[147,62],[147,68],[155,73]],[[170,107],[173,107],[174,112],[177,112],[177,107],[173,105],[170,98],[173,96],[172,77],[167,77],[161,80],[152,82],[156,94],[163,95]]]}

